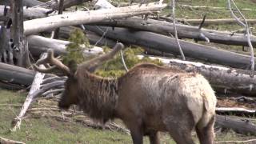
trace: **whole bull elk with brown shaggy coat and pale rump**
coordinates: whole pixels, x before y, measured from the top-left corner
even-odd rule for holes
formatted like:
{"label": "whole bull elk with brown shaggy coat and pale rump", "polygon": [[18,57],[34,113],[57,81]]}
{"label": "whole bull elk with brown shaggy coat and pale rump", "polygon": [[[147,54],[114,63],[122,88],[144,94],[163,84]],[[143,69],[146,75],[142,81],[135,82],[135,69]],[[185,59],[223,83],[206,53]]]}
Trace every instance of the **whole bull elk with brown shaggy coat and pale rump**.
{"label": "whole bull elk with brown shaggy coat and pale rump", "polygon": [[178,144],[192,144],[192,130],[200,143],[214,143],[216,97],[201,74],[150,63],[138,64],[120,78],[92,74],[122,47],[118,43],[110,53],[78,66],[74,62],[65,66],[49,50],[48,57],[39,63],[49,62],[68,76],[58,106],[68,109],[78,105],[91,118],[103,122],[120,118],[135,144],[142,143],[143,135],[149,136],[151,144],[160,143],[159,131],[169,132]]}

